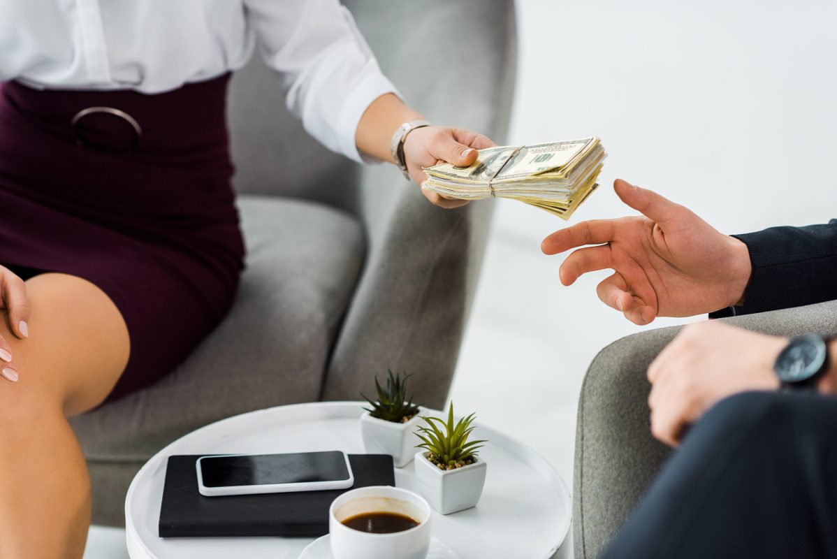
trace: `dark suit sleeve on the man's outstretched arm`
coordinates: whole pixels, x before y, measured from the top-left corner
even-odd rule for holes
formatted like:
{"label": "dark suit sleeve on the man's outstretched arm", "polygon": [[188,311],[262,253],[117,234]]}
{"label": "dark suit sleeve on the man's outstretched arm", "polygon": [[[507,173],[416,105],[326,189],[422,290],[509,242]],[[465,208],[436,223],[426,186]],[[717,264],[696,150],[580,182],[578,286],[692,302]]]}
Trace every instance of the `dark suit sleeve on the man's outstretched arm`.
{"label": "dark suit sleeve on the man's outstretched arm", "polygon": [[710,318],[837,299],[837,219],[733,237],[741,239],[750,251],[750,284],[743,305],[710,313]]}

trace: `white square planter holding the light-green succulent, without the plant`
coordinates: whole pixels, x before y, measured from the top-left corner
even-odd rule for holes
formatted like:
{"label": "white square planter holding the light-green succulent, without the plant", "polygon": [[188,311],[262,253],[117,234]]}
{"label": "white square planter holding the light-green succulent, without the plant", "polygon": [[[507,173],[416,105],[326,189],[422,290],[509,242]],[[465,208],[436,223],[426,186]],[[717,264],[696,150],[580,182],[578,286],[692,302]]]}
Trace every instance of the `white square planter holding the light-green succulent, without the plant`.
{"label": "white square planter holding the light-green succulent, without the plant", "polygon": [[475,457],[474,464],[457,469],[439,469],[427,459],[426,450],[415,455],[419,493],[443,515],[470,509],[482,495],[487,464]]}

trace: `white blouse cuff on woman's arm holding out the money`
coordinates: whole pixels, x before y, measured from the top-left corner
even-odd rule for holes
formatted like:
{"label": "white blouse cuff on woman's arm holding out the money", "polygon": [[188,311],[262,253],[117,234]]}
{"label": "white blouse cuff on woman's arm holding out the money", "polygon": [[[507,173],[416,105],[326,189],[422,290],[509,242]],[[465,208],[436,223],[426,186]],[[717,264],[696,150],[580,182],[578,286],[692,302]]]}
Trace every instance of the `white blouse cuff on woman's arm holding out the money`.
{"label": "white blouse cuff on woman's arm holding out the money", "polygon": [[352,92],[343,101],[340,113],[337,116],[335,129],[340,151],[343,155],[358,163],[377,163],[380,162],[377,158],[357,150],[357,142],[355,141],[357,126],[361,122],[363,113],[366,112],[369,105],[372,105],[372,101],[388,93],[398,95],[399,98],[401,94],[398,93],[392,82],[377,69],[377,64],[374,62],[367,65],[363,74],[352,88]]}

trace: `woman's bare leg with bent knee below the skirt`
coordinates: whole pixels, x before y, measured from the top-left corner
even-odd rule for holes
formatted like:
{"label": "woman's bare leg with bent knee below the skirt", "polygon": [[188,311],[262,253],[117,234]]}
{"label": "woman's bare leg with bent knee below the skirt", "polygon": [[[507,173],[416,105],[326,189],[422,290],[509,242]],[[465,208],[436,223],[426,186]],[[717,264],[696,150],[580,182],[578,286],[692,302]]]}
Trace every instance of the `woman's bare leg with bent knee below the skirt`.
{"label": "woman's bare leg with bent knee below the skirt", "polygon": [[26,285],[28,339],[0,321],[19,375],[0,378],[0,557],[78,559],[90,526],[90,478],[67,418],[114,387],[128,331],[116,305],[85,280],[44,274]]}

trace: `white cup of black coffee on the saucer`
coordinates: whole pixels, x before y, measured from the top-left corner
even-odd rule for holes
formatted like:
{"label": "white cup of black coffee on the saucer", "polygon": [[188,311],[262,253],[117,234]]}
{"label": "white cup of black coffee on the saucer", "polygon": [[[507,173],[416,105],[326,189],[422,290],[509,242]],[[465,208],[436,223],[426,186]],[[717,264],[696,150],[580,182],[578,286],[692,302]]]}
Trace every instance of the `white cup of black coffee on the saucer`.
{"label": "white cup of black coffee on the saucer", "polygon": [[[370,534],[343,524],[352,516],[391,512],[419,522],[409,530]],[[430,547],[430,505],[412,491],[385,485],[362,487],[337,497],[328,511],[334,559],[424,559]]]}

